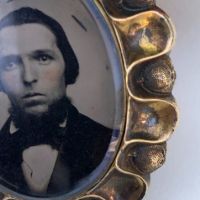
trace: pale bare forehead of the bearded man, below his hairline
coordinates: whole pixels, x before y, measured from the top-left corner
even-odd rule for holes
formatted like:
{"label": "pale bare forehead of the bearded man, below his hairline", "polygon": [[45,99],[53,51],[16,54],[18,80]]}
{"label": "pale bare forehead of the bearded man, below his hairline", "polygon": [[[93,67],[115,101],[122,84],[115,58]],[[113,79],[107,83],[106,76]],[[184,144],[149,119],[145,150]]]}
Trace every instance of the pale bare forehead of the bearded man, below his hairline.
{"label": "pale bare forehead of the bearded man, below his hairline", "polygon": [[41,24],[8,26],[0,30],[0,54],[28,54],[57,47],[54,34]]}

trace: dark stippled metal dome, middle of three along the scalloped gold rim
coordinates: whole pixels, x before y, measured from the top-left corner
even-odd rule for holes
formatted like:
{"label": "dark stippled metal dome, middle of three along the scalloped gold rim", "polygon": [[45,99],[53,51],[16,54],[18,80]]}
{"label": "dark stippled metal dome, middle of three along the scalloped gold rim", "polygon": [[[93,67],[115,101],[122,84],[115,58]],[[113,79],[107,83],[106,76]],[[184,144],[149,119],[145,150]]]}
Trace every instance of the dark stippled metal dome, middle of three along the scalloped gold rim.
{"label": "dark stippled metal dome, middle of three along the scalloped gold rim", "polygon": [[175,78],[170,58],[161,56],[132,68],[128,74],[128,88],[136,96],[170,96]]}

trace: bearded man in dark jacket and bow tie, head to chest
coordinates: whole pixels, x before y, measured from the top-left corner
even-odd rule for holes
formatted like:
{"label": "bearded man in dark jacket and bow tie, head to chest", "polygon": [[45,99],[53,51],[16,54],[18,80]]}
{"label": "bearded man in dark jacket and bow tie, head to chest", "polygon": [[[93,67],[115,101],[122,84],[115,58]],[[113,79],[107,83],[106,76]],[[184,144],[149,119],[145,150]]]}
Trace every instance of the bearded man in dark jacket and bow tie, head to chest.
{"label": "bearded man in dark jacket and bow tie, head to chest", "polygon": [[68,97],[80,68],[61,24],[40,9],[0,19],[0,90],[9,99],[0,131],[5,186],[33,196],[66,193],[103,160],[112,128]]}

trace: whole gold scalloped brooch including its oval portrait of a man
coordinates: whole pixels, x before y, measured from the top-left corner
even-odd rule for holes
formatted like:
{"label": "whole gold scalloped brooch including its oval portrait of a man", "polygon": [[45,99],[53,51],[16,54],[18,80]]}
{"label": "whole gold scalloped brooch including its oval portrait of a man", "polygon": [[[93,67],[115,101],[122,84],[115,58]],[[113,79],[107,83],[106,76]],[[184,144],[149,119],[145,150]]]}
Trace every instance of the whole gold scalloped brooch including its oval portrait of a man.
{"label": "whole gold scalloped brooch including its oval portrait of a man", "polygon": [[177,122],[169,17],[154,0],[0,9],[0,199],[142,199]]}

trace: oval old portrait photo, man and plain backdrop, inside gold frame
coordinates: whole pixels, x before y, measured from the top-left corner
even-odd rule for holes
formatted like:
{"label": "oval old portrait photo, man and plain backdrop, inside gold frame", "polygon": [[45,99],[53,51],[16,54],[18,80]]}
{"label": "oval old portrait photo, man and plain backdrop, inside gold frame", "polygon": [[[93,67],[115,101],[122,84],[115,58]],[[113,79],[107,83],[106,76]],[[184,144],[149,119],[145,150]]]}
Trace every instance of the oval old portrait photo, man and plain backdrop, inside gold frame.
{"label": "oval old portrait photo, man and plain backdrop, inside gold frame", "polygon": [[[103,161],[115,128],[115,89],[103,43],[96,46],[101,39],[80,45],[84,34],[95,35],[85,25],[96,26],[90,15],[84,24],[70,14],[84,33],[72,41],[76,30],[51,16],[53,1],[43,5],[48,12],[32,2],[0,5],[0,181],[22,194],[51,196],[73,190]],[[66,1],[59,2],[56,16]]]}

